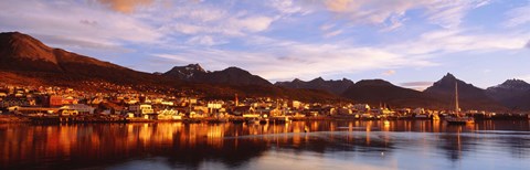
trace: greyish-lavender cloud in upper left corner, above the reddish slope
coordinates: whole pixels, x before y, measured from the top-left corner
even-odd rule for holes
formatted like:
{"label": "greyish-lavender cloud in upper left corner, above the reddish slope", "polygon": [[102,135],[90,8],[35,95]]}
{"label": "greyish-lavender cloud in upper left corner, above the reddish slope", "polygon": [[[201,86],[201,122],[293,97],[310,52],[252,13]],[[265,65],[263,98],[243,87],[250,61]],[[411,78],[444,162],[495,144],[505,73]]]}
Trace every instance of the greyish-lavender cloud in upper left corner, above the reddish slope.
{"label": "greyish-lavender cloud in upper left corner, above the reddish slope", "polygon": [[162,38],[156,28],[139,19],[78,1],[2,0],[0,6],[10,7],[0,12],[1,28],[46,35],[44,43],[50,40],[60,45],[100,49],[123,43],[157,43]]}

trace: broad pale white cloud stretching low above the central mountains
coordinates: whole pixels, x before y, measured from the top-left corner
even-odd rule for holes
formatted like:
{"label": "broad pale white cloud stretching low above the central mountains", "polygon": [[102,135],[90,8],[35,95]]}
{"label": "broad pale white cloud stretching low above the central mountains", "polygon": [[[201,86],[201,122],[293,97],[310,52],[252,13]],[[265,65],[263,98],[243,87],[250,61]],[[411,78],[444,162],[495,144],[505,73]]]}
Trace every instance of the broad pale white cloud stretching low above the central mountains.
{"label": "broad pale white cloud stretching low above the central mountains", "polygon": [[274,39],[262,39],[259,43],[258,51],[201,49],[153,55],[181,62],[180,64],[200,62],[211,66],[211,70],[240,66],[267,79],[292,79],[293,77],[307,79],[377,68],[435,65],[428,61],[406,57],[378,47],[308,44]]}

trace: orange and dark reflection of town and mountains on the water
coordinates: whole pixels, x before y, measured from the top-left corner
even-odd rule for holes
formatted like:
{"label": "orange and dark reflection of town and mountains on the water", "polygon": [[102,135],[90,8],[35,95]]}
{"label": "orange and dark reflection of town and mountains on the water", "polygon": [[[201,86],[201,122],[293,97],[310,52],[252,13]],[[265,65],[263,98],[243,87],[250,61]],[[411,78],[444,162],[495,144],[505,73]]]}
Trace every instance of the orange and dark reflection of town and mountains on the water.
{"label": "orange and dark reflection of town and mountains on the water", "polygon": [[[519,125],[520,124],[520,125]],[[442,150],[449,160],[477,149],[477,130],[529,131],[527,123],[484,121],[447,126],[441,121],[294,121],[278,125],[246,124],[87,124],[0,125],[0,169],[75,169],[113,164],[147,157],[168,158],[168,164],[197,168],[205,160],[239,167],[271,149],[317,153],[354,151],[363,156],[391,156],[406,144],[393,131],[442,132],[434,144],[411,141],[425,151]],[[447,132],[447,134],[445,134]],[[528,141],[496,139],[513,157],[526,157]],[[510,141],[512,142],[510,142]],[[515,142],[513,142],[515,141]],[[402,146],[403,147],[403,146]]]}

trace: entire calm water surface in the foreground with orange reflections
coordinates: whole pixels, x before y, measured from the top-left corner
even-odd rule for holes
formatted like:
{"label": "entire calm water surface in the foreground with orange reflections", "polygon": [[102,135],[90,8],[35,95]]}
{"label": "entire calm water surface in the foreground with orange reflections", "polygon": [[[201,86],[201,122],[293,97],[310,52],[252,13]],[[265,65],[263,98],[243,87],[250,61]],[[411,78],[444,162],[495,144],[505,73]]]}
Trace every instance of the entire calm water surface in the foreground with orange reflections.
{"label": "entire calm water surface in the foreground with orange reflections", "polygon": [[0,169],[530,169],[530,124],[0,125]]}

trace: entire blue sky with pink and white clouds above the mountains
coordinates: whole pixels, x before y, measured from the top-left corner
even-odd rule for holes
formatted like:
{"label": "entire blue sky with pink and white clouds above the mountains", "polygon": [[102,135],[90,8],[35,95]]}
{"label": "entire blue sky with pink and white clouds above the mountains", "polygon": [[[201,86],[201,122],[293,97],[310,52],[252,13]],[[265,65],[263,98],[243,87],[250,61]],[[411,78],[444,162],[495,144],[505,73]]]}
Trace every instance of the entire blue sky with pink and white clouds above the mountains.
{"label": "entire blue sky with pink and white clouds above the mountains", "polygon": [[530,0],[1,0],[0,31],[142,72],[530,82]]}

